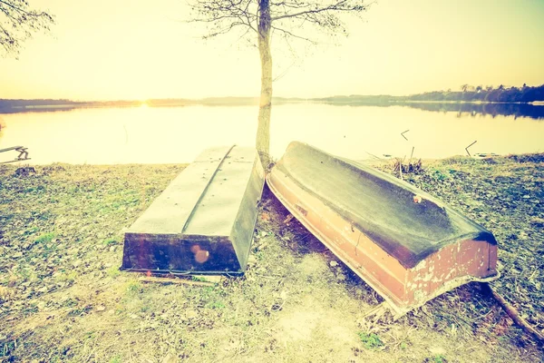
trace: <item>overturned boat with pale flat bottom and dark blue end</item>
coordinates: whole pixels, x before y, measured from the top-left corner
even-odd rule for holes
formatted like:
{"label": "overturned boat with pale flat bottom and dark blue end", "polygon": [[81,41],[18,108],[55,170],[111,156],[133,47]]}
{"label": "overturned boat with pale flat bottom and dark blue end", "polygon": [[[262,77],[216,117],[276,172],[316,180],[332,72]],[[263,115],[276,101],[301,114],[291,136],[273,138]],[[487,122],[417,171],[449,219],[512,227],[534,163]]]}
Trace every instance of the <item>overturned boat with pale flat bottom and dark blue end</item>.
{"label": "overturned boat with pale flat bottom and dark blue end", "polygon": [[243,274],[263,185],[255,149],[202,152],[125,232],[121,270]]}

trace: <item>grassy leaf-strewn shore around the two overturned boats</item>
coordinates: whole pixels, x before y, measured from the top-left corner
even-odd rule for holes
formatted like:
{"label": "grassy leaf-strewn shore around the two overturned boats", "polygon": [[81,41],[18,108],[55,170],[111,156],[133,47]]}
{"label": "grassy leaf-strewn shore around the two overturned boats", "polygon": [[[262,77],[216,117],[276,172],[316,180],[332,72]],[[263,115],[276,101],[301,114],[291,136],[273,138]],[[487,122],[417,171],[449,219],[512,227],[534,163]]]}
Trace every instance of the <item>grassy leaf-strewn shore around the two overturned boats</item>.
{"label": "grassy leaf-strewn shore around the two overturned boats", "polygon": [[[544,155],[423,166],[403,178],[495,234],[492,284],[543,330]],[[142,284],[118,270],[123,230],[182,169],[0,167],[0,362],[542,360],[477,284],[395,322],[364,319],[381,298],[267,190],[244,277]]]}

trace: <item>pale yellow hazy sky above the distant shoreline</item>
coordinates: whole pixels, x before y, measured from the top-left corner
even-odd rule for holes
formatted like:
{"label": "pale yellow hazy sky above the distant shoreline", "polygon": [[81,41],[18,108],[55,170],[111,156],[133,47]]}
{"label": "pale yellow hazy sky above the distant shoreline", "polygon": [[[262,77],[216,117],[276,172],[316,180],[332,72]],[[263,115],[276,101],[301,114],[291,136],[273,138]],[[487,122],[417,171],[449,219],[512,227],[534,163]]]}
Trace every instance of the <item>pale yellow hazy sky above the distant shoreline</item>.
{"label": "pale yellow hazy sky above the distant shoreline", "polygon": [[[203,41],[183,0],[31,0],[55,15],[18,59],[0,58],[0,98],[146,100],[258,96],[257,48]],[[274,95],[412,94],[544,83],[542,0],[378,0],[347,37],[287,51],[273,35]]]}

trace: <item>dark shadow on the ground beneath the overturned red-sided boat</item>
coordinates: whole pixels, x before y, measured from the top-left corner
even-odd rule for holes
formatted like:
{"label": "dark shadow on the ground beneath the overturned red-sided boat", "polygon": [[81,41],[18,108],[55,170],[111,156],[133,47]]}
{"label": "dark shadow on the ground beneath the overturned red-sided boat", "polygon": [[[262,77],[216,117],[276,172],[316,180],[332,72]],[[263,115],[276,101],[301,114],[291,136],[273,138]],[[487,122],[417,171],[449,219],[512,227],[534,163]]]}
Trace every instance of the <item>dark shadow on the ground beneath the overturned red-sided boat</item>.
{"label": "dark shadow on the ground beneath the overturned red-sided boat", "polygon": [[[310,254],[322,256],[327,268],[334,273],[336,282],[345,286],[346,294],[353,299],[362,300],[369,306],[368,309],[384,301],[374,289],[307,231],[277,200],[266,183],[257,219],[257,232],[259,231],[272,232],[281,247],[296,258],[302,259]],[[465,332],[481,333],[482,330],[491,330],[491,326],[503,324],[503,314],[498,313],[497,309],[491,309],[493,305],[492,299],[481,291],[479,284],[471,282],[428,301],[422,308],[409,312],[399,321],[414,327],[426,326],[433,329],[448,329],[455,324]],[[485,325],[477,327],[475,322],[481,322],[481,319],[485,321]]]}

